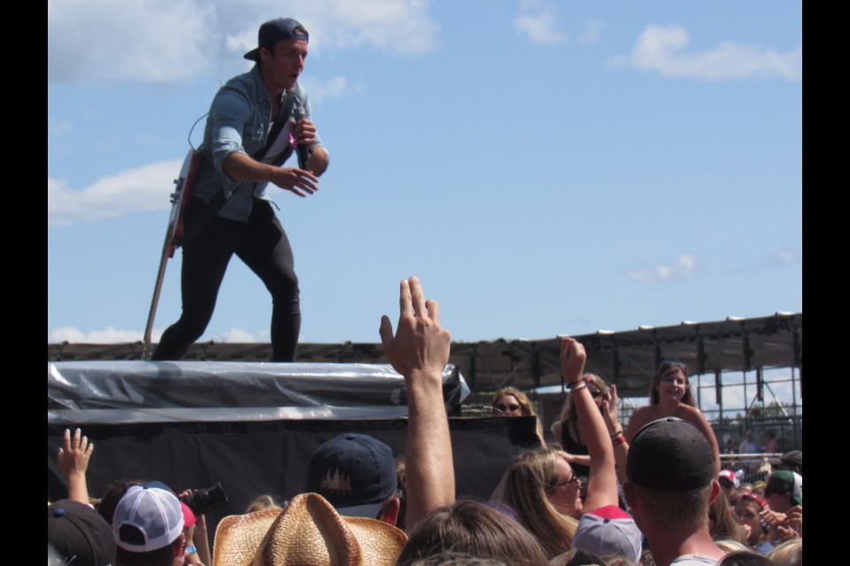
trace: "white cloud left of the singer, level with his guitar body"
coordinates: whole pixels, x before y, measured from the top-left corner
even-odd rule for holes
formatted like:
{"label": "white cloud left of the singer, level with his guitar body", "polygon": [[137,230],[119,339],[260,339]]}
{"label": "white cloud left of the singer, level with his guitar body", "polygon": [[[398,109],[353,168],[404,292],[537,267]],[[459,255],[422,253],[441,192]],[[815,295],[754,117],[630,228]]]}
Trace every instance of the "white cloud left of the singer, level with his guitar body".
{"label": "white cloud left of the singer, level with his guitar body", "polygon": [[82,190],[47,178],[47,224],[115,218],[128,212],[168,210],[182,160],[158,161],[95,181]]}

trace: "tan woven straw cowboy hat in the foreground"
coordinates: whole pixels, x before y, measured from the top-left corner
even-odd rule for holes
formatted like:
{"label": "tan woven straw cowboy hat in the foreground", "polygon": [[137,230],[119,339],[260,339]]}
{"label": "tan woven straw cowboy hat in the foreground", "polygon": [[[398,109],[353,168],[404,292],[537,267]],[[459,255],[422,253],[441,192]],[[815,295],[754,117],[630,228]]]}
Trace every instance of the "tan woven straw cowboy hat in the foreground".
{"label": "tan woven straw cowboy hat in the foreground", "polygon": [[392,566],[406,543],[390,524],[340,516],[318,493],[302,493],[283,510],[222,519],[213,566]]}

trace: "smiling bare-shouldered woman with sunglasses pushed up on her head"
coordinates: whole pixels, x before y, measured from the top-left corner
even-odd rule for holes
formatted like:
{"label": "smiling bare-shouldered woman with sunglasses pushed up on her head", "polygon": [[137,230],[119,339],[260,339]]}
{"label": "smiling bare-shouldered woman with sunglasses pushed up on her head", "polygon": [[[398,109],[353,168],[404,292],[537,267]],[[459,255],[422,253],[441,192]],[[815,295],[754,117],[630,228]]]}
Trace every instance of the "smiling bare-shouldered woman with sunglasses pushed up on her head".
{"label": "smiling bare-shouldered woman with sunglasses pushed up on her head", "polygon": [[693,399],[691,384],[688,381],[687,366],[684,363],[662,362],[655,373],[653,385],[649,388],[649,405],[635,409],[626,428],[626,440],[631,444],[635,434],[656,419],[678,417],[688,421],[705,434],[711,443],[715,459],[715,477],[720,474],[720,448],[715,432],[711,430],[706,417],[697,409]]}

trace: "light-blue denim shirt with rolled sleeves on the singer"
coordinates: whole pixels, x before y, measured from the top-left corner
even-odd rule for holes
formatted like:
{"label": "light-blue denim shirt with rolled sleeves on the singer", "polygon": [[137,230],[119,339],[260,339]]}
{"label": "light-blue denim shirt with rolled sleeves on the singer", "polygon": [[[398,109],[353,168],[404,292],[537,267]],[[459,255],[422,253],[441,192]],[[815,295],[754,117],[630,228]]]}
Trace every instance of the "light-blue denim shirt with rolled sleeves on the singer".
{"label": "light-blue denim shirt with rolled sleeves on the singer", "polygon": [[[310,119],[307,93],[298,84],[295,88],[296,101],[292,107],[303,107],[305,118]],[[197,172],[194,194],[209,202],[223,186],[228,202],[219,210],[220,217],[245,221],[251,215],[255,197],[271,200],[266,194],[267,182],[234,180],[223,167],[225,158],[235,151],[252,156],[266,146],[271,111],[271,94],[260,78],[259,65],[254,65],[250,73],[228,80],[213,99],[200,147],[204,158]],[[281,135],[289,131],[289,126],[285,126]],[[313,145],[322,145],[318,134]],[[283,164],[282,159],[278,161],[273,164]]]}

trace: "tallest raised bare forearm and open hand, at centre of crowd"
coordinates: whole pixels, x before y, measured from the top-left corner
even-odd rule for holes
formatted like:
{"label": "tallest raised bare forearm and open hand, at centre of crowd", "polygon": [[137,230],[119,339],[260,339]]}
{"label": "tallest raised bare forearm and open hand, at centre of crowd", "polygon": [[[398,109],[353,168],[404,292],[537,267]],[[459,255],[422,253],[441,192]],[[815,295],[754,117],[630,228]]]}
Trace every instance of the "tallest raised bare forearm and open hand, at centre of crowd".
{"label": "tallest raised bare forearm and open hand, at centre of crowd", "polygon": [[407,387],[407,530],[454,502],[454,465],[443,404],[443,370],[452,335],[440,328],[439,305],[425,301],[419,279],[401,281],[395,335],[381,318],[383,354]]}

